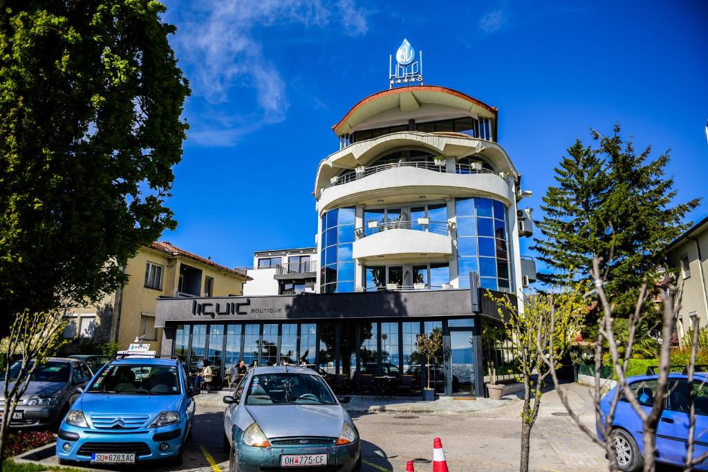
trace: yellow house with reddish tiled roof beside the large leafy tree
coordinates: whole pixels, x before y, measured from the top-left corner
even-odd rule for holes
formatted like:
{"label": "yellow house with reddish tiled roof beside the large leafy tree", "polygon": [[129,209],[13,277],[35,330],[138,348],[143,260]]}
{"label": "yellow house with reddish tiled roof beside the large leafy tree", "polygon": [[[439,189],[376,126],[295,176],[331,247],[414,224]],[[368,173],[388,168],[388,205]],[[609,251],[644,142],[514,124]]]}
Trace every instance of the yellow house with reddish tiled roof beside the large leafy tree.
{"label": "yellow house with reddish tiled roof beside the large leafy tree", "polygon": [[[243,294],[248,276],[209,258],[189,253],[166,241],[143,246],[125,267],[125,287],[93,306],[84,306],[72,318],[64,338],[118,341],[127,347],[137,336],[159,352],[162,338],[155,328],[158,297],[227,297]],[[76,341],[77,343],[79,341]]]}

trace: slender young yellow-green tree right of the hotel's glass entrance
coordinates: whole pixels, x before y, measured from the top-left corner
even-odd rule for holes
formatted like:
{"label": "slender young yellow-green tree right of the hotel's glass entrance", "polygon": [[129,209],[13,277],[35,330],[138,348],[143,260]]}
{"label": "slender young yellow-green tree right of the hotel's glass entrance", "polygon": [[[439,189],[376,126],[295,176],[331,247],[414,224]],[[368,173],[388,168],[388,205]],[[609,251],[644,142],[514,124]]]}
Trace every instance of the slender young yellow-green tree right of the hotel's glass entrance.
{"label": "slender young yellow-green tree right of the hotel's glass entrance", "polygon": [[[583,301],[586,282],[566,285],[557,294],[526,294],[523,311],[508,295],[495,297],[486,292],[500,308],[499,316],[506,321],[507,336],[512,340],[513,354],[518,362],[518,381],[524,385],[521,409],[521,472],[529,470],[531,430],[541,407],[542,389],[551,373],[544,359],[555,366],[559,364],[579,332],[587,304]],[[555,314],[553,321],[547,313]]]}

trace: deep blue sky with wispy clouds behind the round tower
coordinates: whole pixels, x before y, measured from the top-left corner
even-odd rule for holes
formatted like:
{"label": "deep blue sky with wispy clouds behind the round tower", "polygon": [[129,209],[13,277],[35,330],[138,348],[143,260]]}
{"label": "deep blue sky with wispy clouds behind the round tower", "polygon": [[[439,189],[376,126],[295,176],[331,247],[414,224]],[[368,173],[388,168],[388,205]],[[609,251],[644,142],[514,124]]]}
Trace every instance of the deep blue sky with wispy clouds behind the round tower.
{"label": "deep blue sky with wispy clouds behind the round tower", "polygon": [[[707,2],[165,3],[193,96],[169,201],[179,226],[162,239],[224,265],[314,246],[331,125],[388,88],[403,38],[423,50],[426,84],[499,108],[499,143],[534,192],[525,205],[539,207],[577,137],[615,122],[637,149],[671,149],[680,200],[707,195]],[[707,215],[704,201],[690,219]]]}

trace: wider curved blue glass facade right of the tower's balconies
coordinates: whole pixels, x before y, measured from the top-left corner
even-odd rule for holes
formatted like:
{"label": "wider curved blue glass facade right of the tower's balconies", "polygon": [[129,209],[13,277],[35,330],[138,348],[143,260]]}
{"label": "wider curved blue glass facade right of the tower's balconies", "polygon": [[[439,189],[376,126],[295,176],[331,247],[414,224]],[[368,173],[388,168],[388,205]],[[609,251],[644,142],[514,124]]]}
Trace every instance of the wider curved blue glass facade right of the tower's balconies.
{"label": "wider curved blue glass facade right of the tower's balconies", "polygon": [[459,287],[479,272],[482,288],[510,292],[506,205],[491,198],[457,198]]}

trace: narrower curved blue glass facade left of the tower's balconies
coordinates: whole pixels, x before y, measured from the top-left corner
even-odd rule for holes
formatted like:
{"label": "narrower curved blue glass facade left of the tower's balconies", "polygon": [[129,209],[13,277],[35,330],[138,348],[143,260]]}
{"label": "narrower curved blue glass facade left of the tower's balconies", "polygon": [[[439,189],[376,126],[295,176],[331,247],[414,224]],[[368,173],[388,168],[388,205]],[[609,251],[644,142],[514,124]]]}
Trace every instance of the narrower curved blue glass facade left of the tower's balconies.
{"label": "narrower curved blue glass facade left of the tower's balconies", "polygon": [[355,207],[337,208],[322,215],[320,234],[320,293],[354,292]]}

